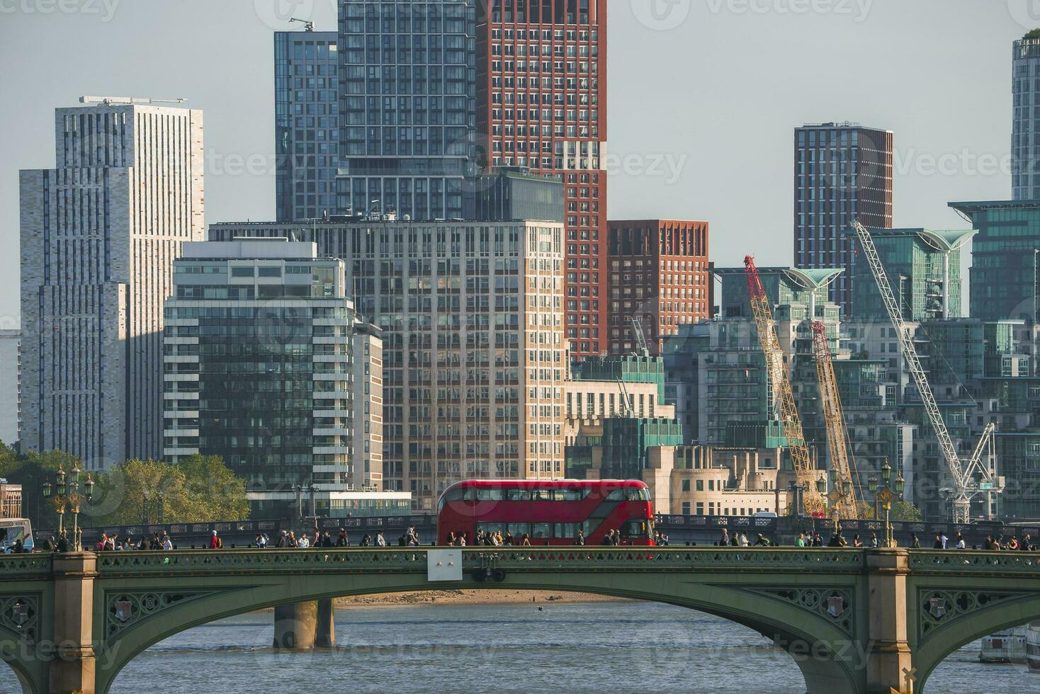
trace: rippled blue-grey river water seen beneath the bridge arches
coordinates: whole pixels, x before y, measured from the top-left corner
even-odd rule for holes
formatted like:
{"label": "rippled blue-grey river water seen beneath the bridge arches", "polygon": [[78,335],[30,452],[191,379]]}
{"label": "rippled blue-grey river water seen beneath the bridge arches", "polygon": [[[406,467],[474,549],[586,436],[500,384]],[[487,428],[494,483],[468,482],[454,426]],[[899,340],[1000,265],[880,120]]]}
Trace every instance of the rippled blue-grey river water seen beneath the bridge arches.
{"label": "rippled blue-grey river water seen beneath the bridge arches", "polygon": [[[667,605],[350,608],[336,614],[334,651],[275,652],[272,633],[269,612],[184,632],[131,662],[112,694],[805,692],[798,666],[769,640]],[[947,658],[928,691],[1040,692],[1040,675],[982,665],[978,648]],[[0,671],[0,694],[21,694],[10,670]]]}

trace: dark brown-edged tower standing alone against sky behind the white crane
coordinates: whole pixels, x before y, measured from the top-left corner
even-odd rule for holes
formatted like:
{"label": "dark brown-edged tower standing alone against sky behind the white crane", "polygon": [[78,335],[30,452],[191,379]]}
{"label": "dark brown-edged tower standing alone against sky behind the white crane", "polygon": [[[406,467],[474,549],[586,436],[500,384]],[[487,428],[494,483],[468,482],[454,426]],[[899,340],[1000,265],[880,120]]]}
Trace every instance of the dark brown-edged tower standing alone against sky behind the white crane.
{"label": "dark brown-edged tower standing alone against sky behind the white crane", "polygon": [[892,225],[892,132],[854,123],[795,130],[795,266],[842,267],[831,300],[854,315],[853,220]]}

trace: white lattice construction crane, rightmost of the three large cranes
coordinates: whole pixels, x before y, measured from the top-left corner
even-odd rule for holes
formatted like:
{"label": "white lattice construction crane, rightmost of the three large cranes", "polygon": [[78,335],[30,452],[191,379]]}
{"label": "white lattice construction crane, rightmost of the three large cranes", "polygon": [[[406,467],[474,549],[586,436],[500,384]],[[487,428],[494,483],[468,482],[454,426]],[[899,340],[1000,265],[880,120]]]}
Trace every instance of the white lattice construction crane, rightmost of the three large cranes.
{"label": "white lattice construction crane, rightmost of the three large cranes", "polygon": [[[900,347],[903,349],[903,356],[906,358],[907,367],[913,375],[917,393],[920,395],[920,400],[925,405],[925,412],[928,415],[932,429],[935,431],[935,438],[939,444],[939,450],[942,451],[942,457],[946,460],[946,468],[953,481],[953,487],[944,488],[942,491],[946,495],[950,502],[951,519],[954,523],[968,523],[971,517],[971,500],[977,495],[985,491],[989,496],[1004,491],[1004,478],[995,475],[993,432],[996,427],[992,424],[987,426],[971,457],[966,460],[961,459],[953,439],[950,437],[946,423],[942,420],[942,412],[939,411],[939,405],[935,401],[932,386],[929,384],[928,378],[925,376],[925,371],[920,367],[917,349],[914,347],[913,341],[908,335],[906,324],[903,322],[903,315],[892,294],[892,287],[888,283],[888,275],[885,274],[885,268],[878,257],[878,249],[874,245],[874,239],[870,237],[870,233],[866,230],[866,226],[858,221],[853,222],[853,229],[859,238],[863,255],[866,256],[866,260],[870,264],[870,271],[874,273],[874,279],[878,285],[878,290],[881,292],[881,299],[888,311],[888,318],[892,322],[892,327],[895,328],[895,336],[899,338]],[[982,464],[982,455],[984,452],[987,453],[986,464]],[[977,478],[981,478],[981,482]]]}

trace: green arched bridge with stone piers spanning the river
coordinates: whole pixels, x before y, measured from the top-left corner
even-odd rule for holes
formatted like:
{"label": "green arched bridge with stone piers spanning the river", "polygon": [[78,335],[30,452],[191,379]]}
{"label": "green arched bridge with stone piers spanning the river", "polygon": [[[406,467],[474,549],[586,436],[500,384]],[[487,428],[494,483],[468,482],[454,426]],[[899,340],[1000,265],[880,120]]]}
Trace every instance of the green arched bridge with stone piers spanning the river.
{"label": "green arched bridge with stone piers spanning the river", "polygon": [[[1040,619],[1040,554],[934,550],[467,548],[0,557],[0,658],[27,694],[107,694],[142,650],[216,619],[341,595],[581,591],[691,608],[785,649],[809,694],[915,691],[960,646]],[[461,557],[459,556],[461,555]]]}

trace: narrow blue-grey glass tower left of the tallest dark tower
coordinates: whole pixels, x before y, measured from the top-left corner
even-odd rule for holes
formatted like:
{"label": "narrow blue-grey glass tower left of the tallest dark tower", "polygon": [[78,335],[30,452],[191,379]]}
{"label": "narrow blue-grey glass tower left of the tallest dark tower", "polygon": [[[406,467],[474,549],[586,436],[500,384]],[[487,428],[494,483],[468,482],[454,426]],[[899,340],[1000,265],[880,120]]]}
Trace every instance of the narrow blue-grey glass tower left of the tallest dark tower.
{"label": "narrow blue-grey glass tower left of the tallest dark tower", "polygon": [[335,31],[275,32],[275,208],[279,221],[336,214],[337,39]]}

